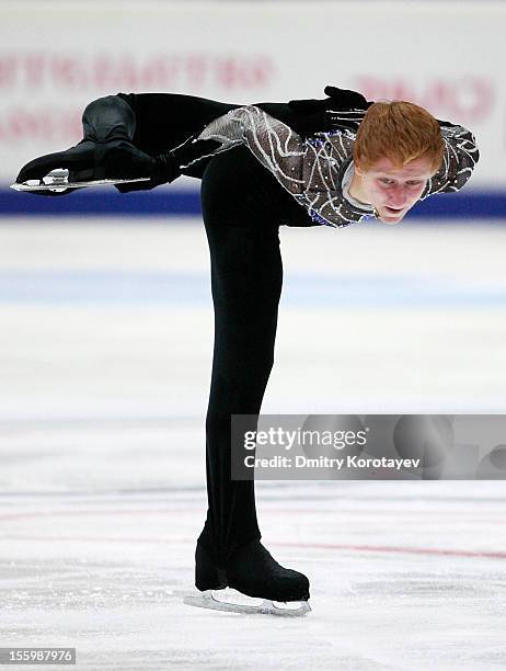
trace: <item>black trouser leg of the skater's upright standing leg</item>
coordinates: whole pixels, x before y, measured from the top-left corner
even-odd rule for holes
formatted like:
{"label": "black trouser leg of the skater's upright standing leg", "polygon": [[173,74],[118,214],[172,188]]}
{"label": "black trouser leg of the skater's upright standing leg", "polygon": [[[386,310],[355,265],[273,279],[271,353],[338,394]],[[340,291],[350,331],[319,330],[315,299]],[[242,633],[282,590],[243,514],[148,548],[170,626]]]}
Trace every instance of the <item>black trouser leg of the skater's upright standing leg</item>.
{"label": "black trouser leg of the skater's upright standing leg", "polygon": [[223,567],[234,549],[261,537],[254,481],[231,479],[231,450],[240,446],[231,444],[230,420],[260,413],[273,366],[283,266],[269,201],[278,192],[244,148],[215,157],[203,179],[215,348],[206,419],[209,508],[199,541]]}

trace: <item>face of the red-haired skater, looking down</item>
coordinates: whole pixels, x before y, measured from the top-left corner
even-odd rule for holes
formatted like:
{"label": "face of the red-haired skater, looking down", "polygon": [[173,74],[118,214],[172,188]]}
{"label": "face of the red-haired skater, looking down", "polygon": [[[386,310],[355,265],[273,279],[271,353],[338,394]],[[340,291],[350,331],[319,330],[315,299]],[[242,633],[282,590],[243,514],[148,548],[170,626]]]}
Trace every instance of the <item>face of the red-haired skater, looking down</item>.
{"label": "face of the red-haired skater, looking down", "polygon": [[388,158],[380,159],[367,171],[357,167],[363,179],[363,194],[376,208],[383,224],[398,224],[423,194],[427,180],[434,174],[427,158],[410,161],[395,168]]}

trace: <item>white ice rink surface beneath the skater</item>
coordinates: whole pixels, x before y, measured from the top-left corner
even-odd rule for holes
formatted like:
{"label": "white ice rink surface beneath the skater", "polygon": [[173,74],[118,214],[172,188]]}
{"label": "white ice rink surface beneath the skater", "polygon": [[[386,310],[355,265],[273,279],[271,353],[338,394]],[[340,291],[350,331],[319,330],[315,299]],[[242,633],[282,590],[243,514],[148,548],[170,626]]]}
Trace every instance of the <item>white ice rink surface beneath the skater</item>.
{"label": "white ice rink surface beneath the skater", "polygon": [[[202,225],[16,219],[0,238],[0,647],[118,671],[506,667],[501,481],[258,482],[263,541],[309,576],[312,613],[184,605],[206,510]],[[494,221],[281,229],[264,412],[504,412],[505,243]]]}

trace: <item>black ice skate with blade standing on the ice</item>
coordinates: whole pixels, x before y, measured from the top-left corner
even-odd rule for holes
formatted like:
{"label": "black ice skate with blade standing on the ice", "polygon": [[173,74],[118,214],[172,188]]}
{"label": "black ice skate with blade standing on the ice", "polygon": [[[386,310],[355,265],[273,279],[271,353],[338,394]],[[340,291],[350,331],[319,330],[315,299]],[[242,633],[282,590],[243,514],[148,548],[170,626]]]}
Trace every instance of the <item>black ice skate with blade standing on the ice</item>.
{"label": "black ice skate with blade standing on the ice", "polygon": [[[288,617],[311,611],[307,577],[280,566],[260,541],[239,548],[225,569],[217,568],[200,543],[195,559],[195,584],[199,592],[185,598],[187,605]],[[215,590],[219,593],[216,594]]]}

